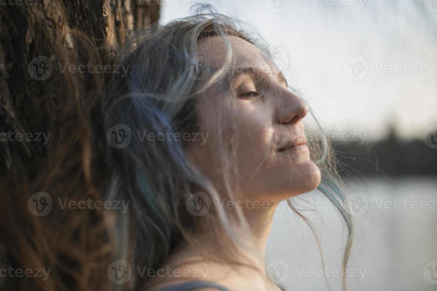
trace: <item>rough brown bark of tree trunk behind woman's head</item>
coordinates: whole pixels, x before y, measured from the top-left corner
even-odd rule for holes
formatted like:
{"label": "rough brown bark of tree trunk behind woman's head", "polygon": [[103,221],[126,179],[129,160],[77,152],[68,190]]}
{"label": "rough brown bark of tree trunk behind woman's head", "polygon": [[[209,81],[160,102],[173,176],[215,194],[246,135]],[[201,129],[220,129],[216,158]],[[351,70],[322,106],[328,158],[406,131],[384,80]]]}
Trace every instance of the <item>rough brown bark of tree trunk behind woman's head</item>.
{"label": "rough brown bark of tree trunk behind woman's head", "polygon": [[[4,5],[3,5],[4,4]],[[65,78],[59,37],[69,30],[111,47],[135,30],[156,24],[156,1],[7,0],[0,6],[0,175],[31,180],[46,154],[49,134],[62,108]],[[73,48],[74,41],[64,44]],[[26,136],[26,134],[28,134]],[[38,136],[39,134],[39,136]],[[32,140],[30,140],[32,139]],[[38,139],[41,142],[38,142]]]}

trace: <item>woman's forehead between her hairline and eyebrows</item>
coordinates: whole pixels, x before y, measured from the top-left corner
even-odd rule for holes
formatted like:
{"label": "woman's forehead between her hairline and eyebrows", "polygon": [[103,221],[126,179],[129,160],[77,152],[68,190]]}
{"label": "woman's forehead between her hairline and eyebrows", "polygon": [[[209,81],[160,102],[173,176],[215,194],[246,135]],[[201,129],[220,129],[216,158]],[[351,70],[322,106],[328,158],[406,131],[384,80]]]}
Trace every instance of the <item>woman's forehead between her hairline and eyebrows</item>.
{"label": "woman's forehead between her hairline and eyebrows", "polygon": [[[232,65],[236,69],[253,67],[263,72],[276,72],[278,68],[257,46],[236,36],[226,37],[232,49]],[[225,41],[218,36],[206,38],[199,43],[200,53],[208,58],[213,70],[222,67],[226,60]]]}

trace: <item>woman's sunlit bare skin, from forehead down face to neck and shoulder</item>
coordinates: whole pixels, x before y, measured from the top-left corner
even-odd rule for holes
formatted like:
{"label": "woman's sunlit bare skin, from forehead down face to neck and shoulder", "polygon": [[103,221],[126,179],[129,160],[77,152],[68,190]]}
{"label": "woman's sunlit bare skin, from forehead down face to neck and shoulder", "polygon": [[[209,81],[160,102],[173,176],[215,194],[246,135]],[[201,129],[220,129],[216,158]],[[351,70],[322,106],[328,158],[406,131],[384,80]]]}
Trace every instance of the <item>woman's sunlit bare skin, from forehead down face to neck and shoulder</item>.
{"label": "woman's sunlit bare skin, from forehead down face to neck and shoulder", "polygon": [[[186,151],[191,161],[205,174],[223,197],[227,197],[223,184],[222,156],[218,140],[233,140],[236,154],[232,165],[236,166],[238,179],[235,187],[236,199],[269,201],[269,208],[243,208],[250,229],[242,228],[234,216],[235,211],[224,209],[232,227],[250,241],[264,259],[265,245],[271,230],[275,206],[281,200],[315,189],[320,183],[320,171],[309,157],[305,145],[302,119],[308,108],[302,99],[287,90],[287,83],[276,66],[268,61],[259,48],[241,38],[229,37],[234,52],[234,65],[239,68],[270,68],[269,71],[229,74],[229,85],[225,90],[214,85],[198,97],[197,111],[200,131],[210,133],[205,145],[190,144]],[[199,45],[201,54],[210,61],[212,70],[218,70],[225,62],[225,44],[218,37],[207,38]],[[248,71],[248,72],[245,72]],[[249,72],[250,71],[250,72]],[[238,71],[237,71],[238,72]],[[272,126],[282,125],[288,130],[285,140],[287,149],[272,147],[275,131]],[[221,135],[219,135],[219,133]],[[273,144],[274,145],[274,144]],[[284,146],[282,146],[284,147]],[[200,191],[201,189],[199,189]],[[219,246],[232,245],[229,237],[219,236],[210,215],[200,220],[196,236],[212,250]],[[241,257],[254,257],[239,248]],[[229,265],[202,262],[184,264],[184,260],[200,259],[196,250],[185,247],[177,252],[166,265],[183,265],[185,268],[208,269],[207,281],[215,281],[231,290],[278,290],[267,278],[253,270],[244,274]],[[243,260],[243,259],[242,259]],[[247,261],[254,264],[253,260]],[[264,262],[256,266],[264,270]],[[166,281],[167,280],[167,281]],[[174,284],[168,279],[155,279],[154,284],[162,287]]]}

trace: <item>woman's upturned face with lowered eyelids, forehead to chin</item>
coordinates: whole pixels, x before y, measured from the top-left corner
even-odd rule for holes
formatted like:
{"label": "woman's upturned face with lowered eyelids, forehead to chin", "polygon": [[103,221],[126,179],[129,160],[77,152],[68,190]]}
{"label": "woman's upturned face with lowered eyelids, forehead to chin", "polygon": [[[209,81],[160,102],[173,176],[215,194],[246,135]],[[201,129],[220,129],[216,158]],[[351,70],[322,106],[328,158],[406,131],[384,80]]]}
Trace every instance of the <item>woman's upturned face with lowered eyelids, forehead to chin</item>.
{"label": "woman's upturned face with lowered eyelids, forehead to chin", "polygon": [[[196,105],[200,131],[208,138],[203,145],[190,143],[188,156],[222,193],[222,160],[228,159],[236,169],[238,199],[284,200],[315,189],[320,171],[305,145],[305,102],[287,90],[281,72],[259,48],[237,37],[229,41],[233,62],[227,78],[203,92]],[[223,67],[221,38],[207,38],[199,49],[212,71]]]}

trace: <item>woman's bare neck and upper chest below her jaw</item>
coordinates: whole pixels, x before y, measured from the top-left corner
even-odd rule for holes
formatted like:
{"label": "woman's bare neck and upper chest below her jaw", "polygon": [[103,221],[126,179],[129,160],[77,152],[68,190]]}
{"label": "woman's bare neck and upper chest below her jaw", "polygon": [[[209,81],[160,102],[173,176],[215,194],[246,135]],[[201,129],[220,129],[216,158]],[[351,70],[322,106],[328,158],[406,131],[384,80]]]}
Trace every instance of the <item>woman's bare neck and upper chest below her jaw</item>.
{"label": "woman's bare neck and upper chest below her jaw", "polygon": [[[267,279],[264,270],[265,246],[276,207],[239,208],[243,208],[241,210],[247,224],[238,219],[236,209],[222,207],[225,218],[229,221],[229,235],[212,213],[201,216],[195,232],[192,233],[199,247],[191,244],[184,246],[166,264],[208,270],[205,280],[220,282],[229,288],[237,284],[240,290],[248,285],[253,290],[277,290],[277,286]],[[243,269],[236,269],[232,263],[239,264]],[[155,280],[151,284],[161,283],[160,280]]]}

